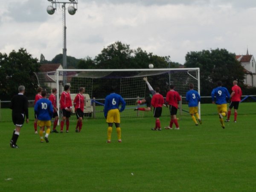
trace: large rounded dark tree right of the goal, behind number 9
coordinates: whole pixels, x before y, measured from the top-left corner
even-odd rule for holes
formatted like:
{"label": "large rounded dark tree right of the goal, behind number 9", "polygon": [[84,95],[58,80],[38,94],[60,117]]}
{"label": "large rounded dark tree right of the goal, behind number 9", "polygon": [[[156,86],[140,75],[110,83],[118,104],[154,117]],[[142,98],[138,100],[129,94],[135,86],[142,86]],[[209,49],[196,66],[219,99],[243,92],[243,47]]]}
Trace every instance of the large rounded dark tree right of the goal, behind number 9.
{"label": "large rounded dark tree right of the goal, behind number 9", "polygon": [[216,82],[221,80],[223,86],[231,89],[233,80],[238,80],[243,87],[243,67],[236,60],[236,55],[226,49],[203,50],[186,54],[185,67],[200,68],[201,95],[209,96]]}

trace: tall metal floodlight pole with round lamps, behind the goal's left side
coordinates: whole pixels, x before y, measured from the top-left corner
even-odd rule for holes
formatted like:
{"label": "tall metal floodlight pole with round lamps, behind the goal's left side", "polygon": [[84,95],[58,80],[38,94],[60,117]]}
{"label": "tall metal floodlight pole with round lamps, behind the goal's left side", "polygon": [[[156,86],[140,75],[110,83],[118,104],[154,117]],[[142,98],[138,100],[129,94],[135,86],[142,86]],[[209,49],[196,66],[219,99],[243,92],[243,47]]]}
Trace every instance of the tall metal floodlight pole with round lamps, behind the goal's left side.
{"label": "tall metal floodlight pole with round lamps, behind the goal's left side", "polygon": [[[77,4],[78,4],[78,0],[69,0],[69,1],[65,1],[65,2],[58,2],[56,0],[48,0],[49,2],[52,3],[51,6],[47,7],[47,13],[48,14],[54,14],[55,10],[57,9],[57,3],[58,4],[62,4],[61,8],[62,8],[62,17],[63,17],[63,69],[67,69],[67,35],[66,35],[66,4],[70,4],[70,6],[68,7],[68,13],[71,15],[76,14],[77,11]],[[67,74],[64,73],[63,74],[63,85],[67,84]]]}

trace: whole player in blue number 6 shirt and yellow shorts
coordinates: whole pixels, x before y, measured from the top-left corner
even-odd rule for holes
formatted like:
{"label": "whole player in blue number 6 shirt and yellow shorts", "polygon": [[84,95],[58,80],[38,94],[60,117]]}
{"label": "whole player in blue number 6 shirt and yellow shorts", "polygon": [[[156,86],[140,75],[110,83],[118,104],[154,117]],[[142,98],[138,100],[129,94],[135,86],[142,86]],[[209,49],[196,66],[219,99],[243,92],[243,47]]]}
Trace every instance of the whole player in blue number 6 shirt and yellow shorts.
{"label": "whole player in blue number 6 shirt and yellow shorts", "polygon": [[[122,104],[121,109],[119,109],[119,104]],[[104,116],[107,119],[108,123],[108,143],[111,142],[111,133],[113,123],[116,126],[117,139],[118,142],[121,143],[121,128],[120,128],[120,113],[125,109],[125,100],[114,92],[114,88],[111,87],[111,94],[105,98],[105,106],[104,106]]]}

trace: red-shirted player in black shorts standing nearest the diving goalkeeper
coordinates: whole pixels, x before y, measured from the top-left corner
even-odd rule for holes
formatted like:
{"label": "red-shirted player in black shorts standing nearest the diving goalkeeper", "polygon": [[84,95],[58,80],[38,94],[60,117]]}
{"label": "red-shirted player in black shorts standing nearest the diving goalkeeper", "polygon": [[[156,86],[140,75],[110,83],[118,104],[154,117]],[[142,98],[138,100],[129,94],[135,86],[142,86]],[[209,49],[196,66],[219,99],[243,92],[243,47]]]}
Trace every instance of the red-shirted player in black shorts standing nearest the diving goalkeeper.
{"label": "red-shirted player in black shorts standing nearest the diving goalkeeper", "polygon": [[160,88],[157,87],[155,89],[155,94],[153,95],[152,99],[151,99],[151,106],[154,107],[154,117],[156,118],[156,123],[155,123],[155,127],[152,128],[152,130],[159,130],[161,131],[161,124],[160,124],[160,117],[162,115],[162,106],[164,103],[164,99],[163,99],[163,95],[161,95],[160,93]]}

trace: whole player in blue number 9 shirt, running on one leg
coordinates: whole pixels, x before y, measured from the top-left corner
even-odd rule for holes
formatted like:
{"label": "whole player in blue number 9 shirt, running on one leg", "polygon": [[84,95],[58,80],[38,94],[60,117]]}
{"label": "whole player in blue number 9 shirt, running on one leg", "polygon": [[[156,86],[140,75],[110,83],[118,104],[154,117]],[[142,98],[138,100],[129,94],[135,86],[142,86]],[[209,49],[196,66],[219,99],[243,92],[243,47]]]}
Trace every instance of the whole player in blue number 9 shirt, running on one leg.
{"label": "whole player in blue number 9 shirt, running on one leg", "polygon": [[227,99],[230,99],[230,93],[226,87],[222,87],[221,81],[218,81],[217,85],[218,87],[212,90],[212,103],[216,103],[221,127],[225,129],[223,116],[227,116]]}

